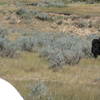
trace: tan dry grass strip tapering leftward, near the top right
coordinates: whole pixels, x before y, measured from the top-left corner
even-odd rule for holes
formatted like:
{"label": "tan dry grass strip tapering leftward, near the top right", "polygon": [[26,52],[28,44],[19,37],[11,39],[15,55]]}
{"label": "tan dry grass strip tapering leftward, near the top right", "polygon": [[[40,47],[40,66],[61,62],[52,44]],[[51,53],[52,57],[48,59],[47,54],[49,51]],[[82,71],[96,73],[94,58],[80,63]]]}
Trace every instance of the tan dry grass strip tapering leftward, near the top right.
{"label": "tan dry grass strip tapering leftward, near the top right", "polygon": [[46,12],[55,12],[55,13],[71,13],[79,15],[92,15],[100,16],[100,4],[69,4],[67,7],[63,8],[43,8],[43,11]]}

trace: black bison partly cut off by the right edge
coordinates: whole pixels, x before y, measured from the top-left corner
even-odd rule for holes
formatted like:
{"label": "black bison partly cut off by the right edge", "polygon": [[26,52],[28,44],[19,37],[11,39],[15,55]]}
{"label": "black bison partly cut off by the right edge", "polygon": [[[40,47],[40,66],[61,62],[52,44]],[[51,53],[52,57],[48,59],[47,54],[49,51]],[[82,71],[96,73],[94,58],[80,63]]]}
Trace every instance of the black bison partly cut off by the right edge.
{"label": "black bison partly cut off by the right edge", "polygon": [[98,55],[100,55],[100,38],[92,40],[92,49],[91,49],[91,52],[93,53],[93,56],[95,58],[97,58]]}

